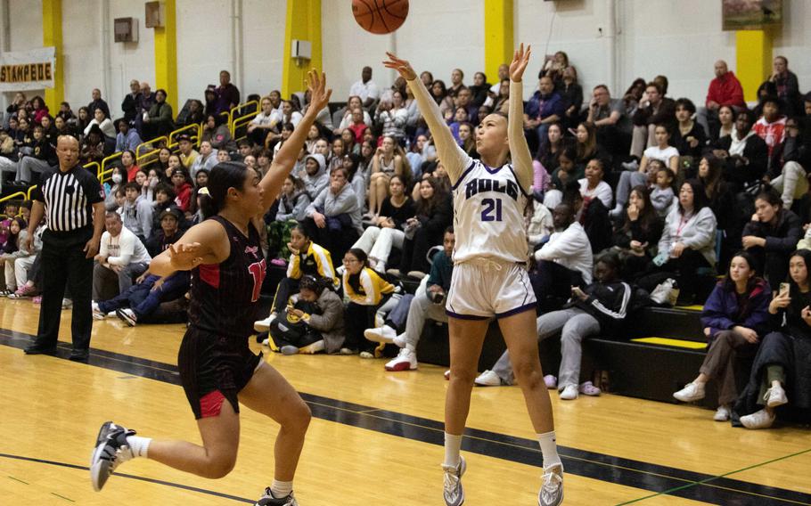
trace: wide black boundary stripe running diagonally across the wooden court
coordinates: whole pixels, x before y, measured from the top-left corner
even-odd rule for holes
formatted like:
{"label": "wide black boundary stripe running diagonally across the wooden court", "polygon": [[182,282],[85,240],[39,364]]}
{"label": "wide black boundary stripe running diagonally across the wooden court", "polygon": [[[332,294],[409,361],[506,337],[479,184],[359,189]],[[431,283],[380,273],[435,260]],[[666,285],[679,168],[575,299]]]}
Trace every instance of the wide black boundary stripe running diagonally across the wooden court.
{"label": "wide black boundary stripe running diagonally across the wooden court", "polygon": [[[32,338],[29,334],[0,329],[0,344],[8,347],[24,348],[30,344]],[[70,345],[60,342],[57,356],[67,358],[69,354]],[[92,349],[90,365],[173,385],[180,384],[176,366],[135,356]],[[366,428],[431,445],[441,446],[444,443],[443,424],[438,420],[414,417],[307,393],[299,392],[299,395],[310,406],[313,416],[322,420]],[[541,453],[535,440],[467,428],[462,447],[467,452],[541,467]],[[656,494],[667,491],[670,495],[693,501],[730,505],[811,504],[811,494],[788,489],[624,459],[604,453],[588,452],[567,446],[558,446],[558,453],[569,474],[640,488]]]}

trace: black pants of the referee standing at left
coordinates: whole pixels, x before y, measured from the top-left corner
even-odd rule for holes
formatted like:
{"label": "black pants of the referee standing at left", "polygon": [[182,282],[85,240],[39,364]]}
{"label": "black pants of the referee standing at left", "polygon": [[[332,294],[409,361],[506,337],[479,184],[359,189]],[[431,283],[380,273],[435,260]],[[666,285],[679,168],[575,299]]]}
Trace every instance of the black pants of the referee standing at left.
{"label": "black pants of the referee standing at left", "polygon": [[73,232],[46,231],[42,245],[42,306],[39,310],[37,347],[55,347],[59,336],[61,304],[65,285],[73,299],[70,331],[74,351],[90,347],[93,312],[90,307],[93,290],[93,258],[86,258],[85,244],[93,237],[93,229]]}

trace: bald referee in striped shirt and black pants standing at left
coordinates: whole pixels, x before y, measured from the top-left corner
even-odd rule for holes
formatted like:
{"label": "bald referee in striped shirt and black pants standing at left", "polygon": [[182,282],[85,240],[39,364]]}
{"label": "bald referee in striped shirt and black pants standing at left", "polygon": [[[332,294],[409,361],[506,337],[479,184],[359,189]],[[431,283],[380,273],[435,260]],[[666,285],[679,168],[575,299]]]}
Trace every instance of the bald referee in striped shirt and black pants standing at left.
{"label": "bald referee in striped shirt and black pants standing at left", "polygon": [[[43,216],[48,224],[42,235],[42,306],[37,339],[28,355],[53,355],[59,336],[61,301],[65,284],[73,298],[73,351],[70,360],[86,362],[93,314],[93,257],[104,231],[104,191],[95,175],[78,163],[78,140],[60,135],[56,142],[59,167],[46,170],[33,194],[29,238]],[[30,250],[30,239],[20,244]]]}

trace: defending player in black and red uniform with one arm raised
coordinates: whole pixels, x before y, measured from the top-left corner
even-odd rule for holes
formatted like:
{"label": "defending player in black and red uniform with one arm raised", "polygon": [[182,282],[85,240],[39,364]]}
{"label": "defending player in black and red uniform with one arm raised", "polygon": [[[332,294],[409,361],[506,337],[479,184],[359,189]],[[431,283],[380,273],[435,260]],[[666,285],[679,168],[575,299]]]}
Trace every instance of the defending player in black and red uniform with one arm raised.
{"label": "defending player in black and red uniform with one arm raised", "polygon": [[270,208],[290,174],[315,116],[332,90],[324,74],[309,72],[307,114],[276,154],[264,178],[238,162],[217,164],[203,200],[209,219],[193,226],[170,249],[152,259],[150,271],[168,276],[192,271],[190,325],[177,357],[186,397],[203,445],[135,436],[108,421],[94,448],[90,474],[95,490],[125,461],[146,457],[201,477],[225,477],[236,461],[239,404],[281,425],[274,446],[274,481],[257,506],[295,506],[292,480],[310,420],[307,404],[278,371],[248,347],[258,319],[266,264],[253,224]]}

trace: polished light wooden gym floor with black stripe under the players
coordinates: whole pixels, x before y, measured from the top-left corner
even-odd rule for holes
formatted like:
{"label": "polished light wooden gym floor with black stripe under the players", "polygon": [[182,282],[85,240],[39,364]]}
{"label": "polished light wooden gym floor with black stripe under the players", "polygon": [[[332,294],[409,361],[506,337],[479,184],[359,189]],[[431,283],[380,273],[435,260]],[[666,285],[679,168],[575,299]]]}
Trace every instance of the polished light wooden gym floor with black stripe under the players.
{"label": "polished light wooden gym floor with black stripe under the players", "polygon": [[[228,477],[136,460],[94,493],[86,466],[104,420],[200,441],[175,367],[184,328],[94,322],[83,364],[66,360],[70,312],[59,357],[23,355],[37,318],[29,300],[0,299],[0,504],[226,505],[253,503],[270,485],[277,428],[243,409]],[[302,506],[442,503],[442,368],[390,373],[356,356],[266,360],[314,414],[295,483]],[[731,428],[708,410],[621,396],[552,399],[566,504],[811,504],[807,428]],[[476,388],[468,426],[465,504],[536,504],[541,459],[520,389]]]}

